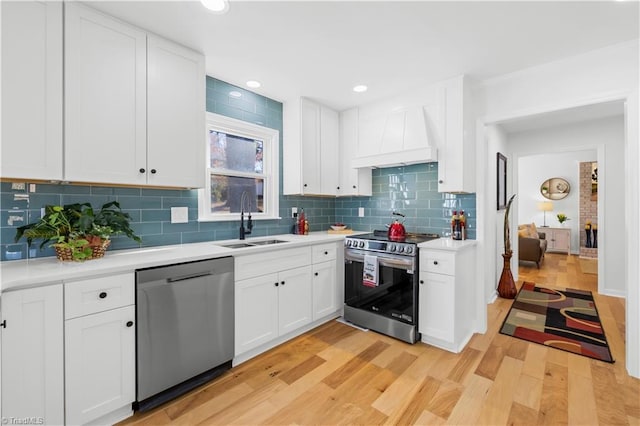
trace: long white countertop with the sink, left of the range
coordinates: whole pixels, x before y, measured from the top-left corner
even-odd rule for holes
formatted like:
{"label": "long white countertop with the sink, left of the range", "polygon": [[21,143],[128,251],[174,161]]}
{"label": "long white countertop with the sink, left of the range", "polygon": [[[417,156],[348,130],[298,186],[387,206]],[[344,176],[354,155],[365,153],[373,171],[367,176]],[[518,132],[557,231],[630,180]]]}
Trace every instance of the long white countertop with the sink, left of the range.
{"label": "long white countertop with the sink, left of the range", "polygon": [[107,251],[102,259],[86,262],[61,262],[55,257],[31,260],[16,260],[0,263],[2,292],[19,288],[36,287],[115,273],[133,272],[136,269],[170,265],[194,260],[224,256],[242,256],[274,249],[303,247],[322,242],[340,241],[344,234],[312,232],[309,235],[270,235],[244,240],[245,242],[278,239],[286,243],[232,249],[222,244],[240,240],[207,241],[204,243],[176,244],[132,250]]}

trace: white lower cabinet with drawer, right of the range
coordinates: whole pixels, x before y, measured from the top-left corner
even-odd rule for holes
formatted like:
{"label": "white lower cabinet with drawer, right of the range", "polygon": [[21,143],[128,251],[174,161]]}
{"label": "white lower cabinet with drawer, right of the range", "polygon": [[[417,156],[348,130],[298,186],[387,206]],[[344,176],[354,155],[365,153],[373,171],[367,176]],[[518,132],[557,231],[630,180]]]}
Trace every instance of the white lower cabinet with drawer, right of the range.
{"label": "white lower cabinet with drawer, right of the range", "polygon": [[475,248],[420,249],[418,330],[424,343],[460,352],[473,334]]}

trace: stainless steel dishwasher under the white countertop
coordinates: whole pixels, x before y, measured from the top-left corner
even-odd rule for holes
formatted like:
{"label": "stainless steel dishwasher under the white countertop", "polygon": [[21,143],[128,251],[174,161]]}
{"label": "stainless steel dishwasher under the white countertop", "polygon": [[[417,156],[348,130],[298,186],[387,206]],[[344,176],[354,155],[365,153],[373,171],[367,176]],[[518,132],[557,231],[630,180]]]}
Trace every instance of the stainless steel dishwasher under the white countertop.
{"label": "stainless steel dishwasher under the white countertop", "polygon": [[233,258],[136,271],[137,390],[147,411],[231,368]]}

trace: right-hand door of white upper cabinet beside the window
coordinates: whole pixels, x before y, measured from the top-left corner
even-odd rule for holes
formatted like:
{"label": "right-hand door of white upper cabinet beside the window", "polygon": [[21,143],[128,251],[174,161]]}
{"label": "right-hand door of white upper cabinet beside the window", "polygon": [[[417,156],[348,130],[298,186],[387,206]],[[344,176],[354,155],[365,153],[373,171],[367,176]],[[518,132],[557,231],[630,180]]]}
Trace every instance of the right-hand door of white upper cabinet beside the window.
{"label": "right-hand door of white upper cabinet beside the window", "polygon": [[338,157],[338,113],[330,108],[320,108],[320,193],[336,195],[340,158]]}

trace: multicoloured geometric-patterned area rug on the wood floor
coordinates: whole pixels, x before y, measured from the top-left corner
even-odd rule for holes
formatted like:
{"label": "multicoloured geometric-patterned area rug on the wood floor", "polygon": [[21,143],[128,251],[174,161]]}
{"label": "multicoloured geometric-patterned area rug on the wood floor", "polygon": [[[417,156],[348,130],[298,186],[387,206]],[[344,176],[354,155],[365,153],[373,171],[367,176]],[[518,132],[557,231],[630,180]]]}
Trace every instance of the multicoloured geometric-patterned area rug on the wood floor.
{"label": "multicoloured geometric-patterned area rug on the wood floor", "polygon": [[500,333],[614,362],[590,291],[525,282]]}

